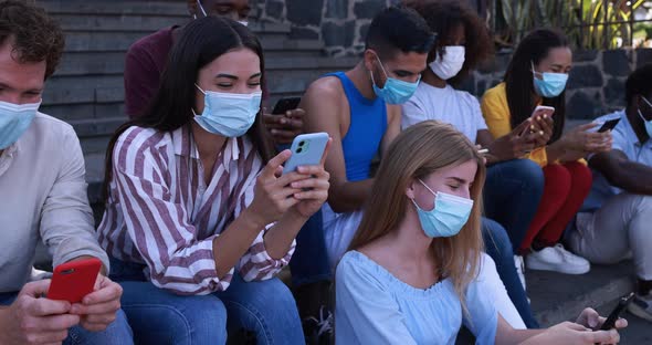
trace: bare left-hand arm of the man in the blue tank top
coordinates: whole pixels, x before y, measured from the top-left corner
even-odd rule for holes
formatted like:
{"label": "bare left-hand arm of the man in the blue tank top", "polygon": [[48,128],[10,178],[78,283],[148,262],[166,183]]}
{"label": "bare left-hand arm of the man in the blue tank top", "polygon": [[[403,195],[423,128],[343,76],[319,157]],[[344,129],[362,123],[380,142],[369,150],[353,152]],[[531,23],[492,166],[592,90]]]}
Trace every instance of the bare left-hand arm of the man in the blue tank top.
{"label": "bare left-hand arm of the man in the blue tank top", "polygon": [[372,179],[351,182],[346,178],[344,161],[343,118],[348,116],[344,91],[335,77],[314,82],[299,105],[305,109],[305,133],[326,132],[333,138],[325,168],[330,174],[328,203],[336,212],[351,212],[360,209],[371,191]]}

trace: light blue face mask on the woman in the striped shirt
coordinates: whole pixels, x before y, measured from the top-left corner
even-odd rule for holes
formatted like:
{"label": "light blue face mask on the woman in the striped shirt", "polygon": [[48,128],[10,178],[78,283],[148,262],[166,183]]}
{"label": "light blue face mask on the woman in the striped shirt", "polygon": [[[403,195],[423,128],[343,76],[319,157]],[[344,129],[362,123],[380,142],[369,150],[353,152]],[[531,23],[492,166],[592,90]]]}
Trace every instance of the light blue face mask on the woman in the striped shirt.
{"label": "light blue face mask on the woman in the striped shirt", "polygon": [[253,126],[261,109],[262,92],[233,94],[203,91],[203,113],[194,113],[194,121],[207,132],[229,138],[242,136]]}

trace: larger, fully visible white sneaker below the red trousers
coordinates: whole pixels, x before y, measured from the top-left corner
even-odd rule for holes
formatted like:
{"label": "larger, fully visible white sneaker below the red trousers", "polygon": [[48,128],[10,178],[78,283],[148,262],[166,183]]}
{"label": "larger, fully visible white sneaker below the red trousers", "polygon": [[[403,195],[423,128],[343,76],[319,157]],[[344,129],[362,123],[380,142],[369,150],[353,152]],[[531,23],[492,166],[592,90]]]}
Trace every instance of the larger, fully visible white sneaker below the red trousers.
{"label": "larger, fully visible white sneaker below the red trousers", "polygon": [[567,251],[559,243],[532,252],[525,258],[525,261],[529,270],[566,274],[585,274],[591,270],[591,264],[587,259]]}

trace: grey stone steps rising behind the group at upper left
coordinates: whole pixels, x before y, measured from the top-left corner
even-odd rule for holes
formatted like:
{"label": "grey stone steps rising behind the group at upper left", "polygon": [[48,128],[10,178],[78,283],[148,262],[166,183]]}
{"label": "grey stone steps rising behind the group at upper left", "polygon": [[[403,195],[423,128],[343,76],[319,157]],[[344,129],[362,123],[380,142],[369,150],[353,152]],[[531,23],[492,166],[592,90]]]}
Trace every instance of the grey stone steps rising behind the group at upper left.
{"label": "grey stone steps rising behind the group at upper left", "polygon": [[[124,56],[138,39],[189,20],[182,1],[42,0],[39,4],[64,29],[66,46],[56,73],[48,81],[43,113],[72,124],[86,158],[90,197],[97,201],[109,136],[126,121]],[[292,40],[290,25],[250,23],[265,50],[271,97],[301,95],[319,75],[348,69],[357,59],[333,59],[316,40]]]}

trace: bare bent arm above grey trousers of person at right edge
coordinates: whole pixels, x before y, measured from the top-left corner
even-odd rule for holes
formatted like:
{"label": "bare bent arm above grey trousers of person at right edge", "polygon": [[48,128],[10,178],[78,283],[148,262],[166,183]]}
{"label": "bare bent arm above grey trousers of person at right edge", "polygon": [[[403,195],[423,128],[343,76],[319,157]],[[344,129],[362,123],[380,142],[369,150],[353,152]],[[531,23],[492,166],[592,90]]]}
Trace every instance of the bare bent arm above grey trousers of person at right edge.
{"label": "bare bent arm above grey trousers of person at right edge", "polygon": [[589,160],[589,166],[604,175],[614,187],[632,194],[652,196],[652,167],[631,161],[619,149],[595,155]]}

